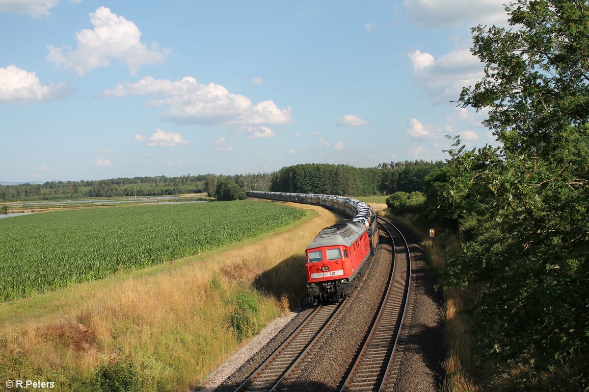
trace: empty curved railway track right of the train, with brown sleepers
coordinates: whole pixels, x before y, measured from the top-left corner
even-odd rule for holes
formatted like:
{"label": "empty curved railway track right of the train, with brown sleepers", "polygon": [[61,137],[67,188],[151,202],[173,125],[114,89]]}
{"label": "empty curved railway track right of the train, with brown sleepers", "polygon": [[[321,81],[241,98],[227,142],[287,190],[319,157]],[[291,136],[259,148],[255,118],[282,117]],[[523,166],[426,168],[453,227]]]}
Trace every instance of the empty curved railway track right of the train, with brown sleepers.
{"label": "empty curved railway track right of the train, with brown sleepers", "polygon": [[411,253],[399,229],[388,219],[378,219],[393,241],[393,268],[378,313],[340,392],[389,390],[398,372],[395,354],[411,287]]}

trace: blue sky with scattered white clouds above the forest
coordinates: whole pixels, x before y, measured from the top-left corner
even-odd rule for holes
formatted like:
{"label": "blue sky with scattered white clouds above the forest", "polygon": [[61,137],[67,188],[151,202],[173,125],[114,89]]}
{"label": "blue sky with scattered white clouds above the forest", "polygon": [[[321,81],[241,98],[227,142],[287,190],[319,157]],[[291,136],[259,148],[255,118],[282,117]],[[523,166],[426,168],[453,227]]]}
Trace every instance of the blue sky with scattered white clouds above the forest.
{"label": "blue sky with scattered white clouds above the forest", "polygon": [[0,0],[0,180],[445,159],[503,0]]}

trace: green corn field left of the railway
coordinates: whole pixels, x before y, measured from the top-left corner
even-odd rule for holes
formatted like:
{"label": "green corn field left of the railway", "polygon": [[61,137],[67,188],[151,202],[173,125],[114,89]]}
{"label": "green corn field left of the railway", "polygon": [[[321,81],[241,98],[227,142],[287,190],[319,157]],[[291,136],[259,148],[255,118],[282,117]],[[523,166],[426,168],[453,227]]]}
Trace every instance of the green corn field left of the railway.
{"label": "green corn field left of the railway", "polygon": [[253,201],[88,208],[0,220],[0,302],[141,269],[305,215]]}

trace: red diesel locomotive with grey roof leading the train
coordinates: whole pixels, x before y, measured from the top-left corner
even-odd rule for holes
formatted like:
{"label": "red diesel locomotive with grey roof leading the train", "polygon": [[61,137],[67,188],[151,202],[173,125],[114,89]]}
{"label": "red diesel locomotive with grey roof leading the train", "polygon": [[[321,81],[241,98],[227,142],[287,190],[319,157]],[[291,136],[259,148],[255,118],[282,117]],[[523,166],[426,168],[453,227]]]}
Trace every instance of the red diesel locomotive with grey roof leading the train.
{"label": "red diesel locomotive with grey roof leading the train", "polygon": [[307,247],[310,302],[340,300],[352,294],[356,280],[366,270],[368,257],[378,246],[375,215],[366,226],[352,219],[341,220],[321,230]]}

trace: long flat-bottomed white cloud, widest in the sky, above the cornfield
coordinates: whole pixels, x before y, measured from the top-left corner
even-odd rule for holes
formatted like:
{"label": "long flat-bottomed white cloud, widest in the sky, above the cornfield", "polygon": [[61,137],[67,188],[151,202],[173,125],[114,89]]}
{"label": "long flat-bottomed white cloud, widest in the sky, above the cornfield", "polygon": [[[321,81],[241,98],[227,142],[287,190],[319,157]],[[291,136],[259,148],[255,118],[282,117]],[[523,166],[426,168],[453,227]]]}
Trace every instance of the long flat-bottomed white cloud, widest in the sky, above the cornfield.
{"label": "long flat-bottomed white cloud, widest in the sky, above the cornfield", "polygon": [[119,83],[101,96],[132,95],[156,96],[148,105],[166,106],[164,119],[178,124],[262,125],[292,121],[290,108],[280,109],[272,100],[254,104],[244,95],[230,93],[215,83],[203,85],[191,76],[179,81],[147,76],[136,83]]}

